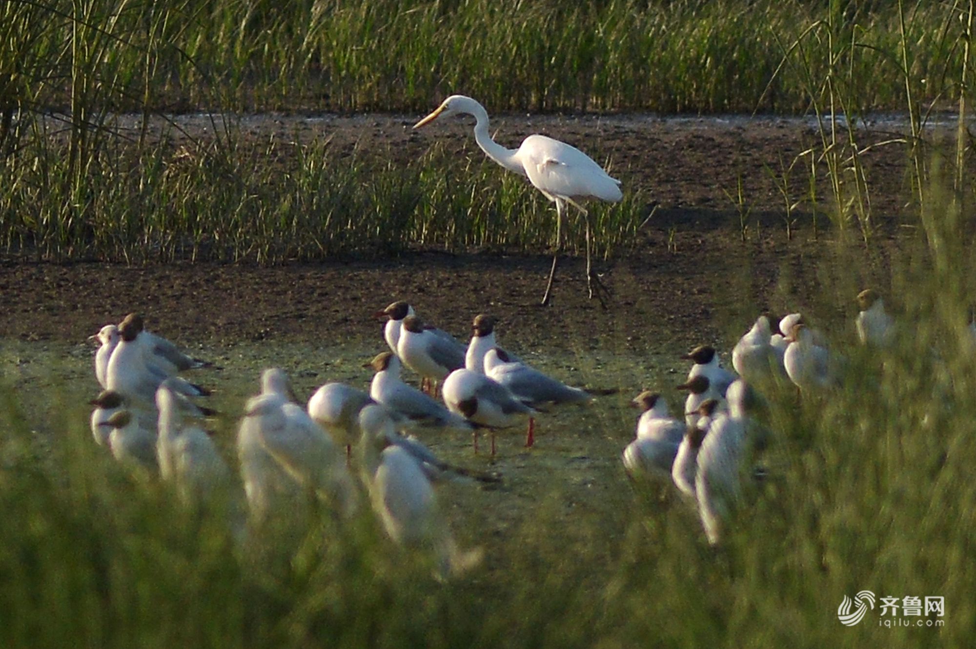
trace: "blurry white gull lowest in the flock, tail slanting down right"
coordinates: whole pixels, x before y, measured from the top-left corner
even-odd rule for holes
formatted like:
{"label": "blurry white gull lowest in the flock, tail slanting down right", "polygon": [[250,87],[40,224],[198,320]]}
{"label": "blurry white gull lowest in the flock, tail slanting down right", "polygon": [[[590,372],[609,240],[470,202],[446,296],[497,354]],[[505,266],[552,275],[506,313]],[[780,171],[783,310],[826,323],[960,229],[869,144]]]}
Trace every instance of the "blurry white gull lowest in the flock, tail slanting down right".
{"label": "blurry white gull lowest in the flock, tail slanting down right", "polygon": [[389,538],[397,545],[432,554],[436,574],[442,579],[477,565],[481,551],[458,548],[417,461],[405,449],[389,445],[395,432],[386,409],[367,405],[359,414],[359,428],[363,478]]}

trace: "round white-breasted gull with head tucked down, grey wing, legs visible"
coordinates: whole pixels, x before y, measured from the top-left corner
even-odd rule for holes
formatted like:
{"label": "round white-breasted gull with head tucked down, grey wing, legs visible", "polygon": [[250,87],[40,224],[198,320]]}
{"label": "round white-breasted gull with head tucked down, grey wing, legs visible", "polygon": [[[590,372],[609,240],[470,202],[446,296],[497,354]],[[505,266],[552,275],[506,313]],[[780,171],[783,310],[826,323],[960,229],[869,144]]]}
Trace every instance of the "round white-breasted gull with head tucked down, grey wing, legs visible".
{"label": "round white-breasted gull with head tucked down, grey wing, legs visible", "polygon": [[[495,430],[517,426],[536,410],[518,401],[508,388],[484,374],[457,369],[444,380],[444,402],[469,422],[491,431],[491,454],[495,455]],[[478,434],[474,432],[474,452],[478,451]]]}

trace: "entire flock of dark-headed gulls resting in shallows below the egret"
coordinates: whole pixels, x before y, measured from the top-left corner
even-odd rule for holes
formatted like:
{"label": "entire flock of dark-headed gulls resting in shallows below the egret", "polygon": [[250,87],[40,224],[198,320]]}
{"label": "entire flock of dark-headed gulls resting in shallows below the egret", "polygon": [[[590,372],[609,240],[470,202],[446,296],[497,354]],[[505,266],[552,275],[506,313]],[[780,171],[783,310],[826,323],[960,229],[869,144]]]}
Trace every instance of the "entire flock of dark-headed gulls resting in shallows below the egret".
{"label": "entire flock of dark-headed gulls resting in shallows below the egret", "polygon": [[[883,301],[871,289],[858,300],[861,341],[890,344],[894,324]],[[495,431],[525,425],[525,444],[532,446],[536,416],[613,391],[570,387],[520,361],[497,344],[496,320],[488,315],[474,318],[467,346],[425,324],[403,301],[375,316],[386,319],[389,351],[364,365],[376,372],[369,393],[327,383],[304,408],[283,370],[264,370],[261,393],[245,404],[238,428],[238,480],[201,426],[215,414],[198,404],[209,391],[181,376],[210,363],[184,354],[146,330],[142,316],[130,314],[91,337],[101,343],[95,372],[103,388],[91,401],[94,438],[138,475],[172,483],[187,506],[206,506],[215,494],[226,497],[243,482],[248,515],[242,528],[287,515],[309,493],[338,515],[352,515],[361,483],[390,539],[431,553],[440,576],[464,572],[478,562],[480,550],[458,548],[437,511],[432,483],[501,477],[449,464],[411,433],[466,432],[477,453],[484,431],[494,455]],[[692,363],[678,386],[688,393],[683,419],[671,416],[658,393],[644,391],[633,399],[642,413],[622,458],[635,480],[673,482],[697,508],[712,545],[721,541],[744,487],[757,476],[756,452],[768,438],[753,417],[763,401],[759,391],[771,382],[793,382],[800,393],[814,392],[836,381],[823,336],[798,313],[780,320],[759,316],[731,357],[735,372],[721,366],[709,345],[682,357]],[[403,380],[404,366],[420,377],[421,389]],[[438,382],[440,401],[433,397]]]}

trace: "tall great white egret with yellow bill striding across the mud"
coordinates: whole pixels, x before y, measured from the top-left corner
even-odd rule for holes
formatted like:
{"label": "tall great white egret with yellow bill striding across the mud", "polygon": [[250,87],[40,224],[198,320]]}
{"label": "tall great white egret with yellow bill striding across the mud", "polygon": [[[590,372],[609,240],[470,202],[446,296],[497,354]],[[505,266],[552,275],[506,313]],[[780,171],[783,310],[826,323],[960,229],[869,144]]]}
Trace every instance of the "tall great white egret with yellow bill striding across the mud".
{"label": "tall great white egret with yellow bill striding across the mud", "polygon": [[[552,268],[549,271],[549,282],[546,285],[546,294],[543,295],[543,304],[549,304],[552,278],[555,276],[559,252],[562,251],[562,219],[566,206],[572,205],[583,213],[587,239],[587,287],[592,298],[594,278],[590,262],[590,214],[582,204],[593,198],[618,203],[624,197],[620,190],[620,180],[610,177],[593,162],[590,156],[575,146],[546,135],[529,135],[522,140],[521,146],[517,149],[505,148],[488,134],[488,112],[484,106],[469,96],[447,97],[436,110],[415,124],[414,128],[419,129],[438,117],[455,113],[474,116],[476,120],[474,140],[489,158],[510,172],[526,176],[536,189],[555,203],[556,248],[552,256]],[[596,281],[596,285],[602,288],[599,280]],[[603,303],[602,296],[597,293],[597,297]]]}

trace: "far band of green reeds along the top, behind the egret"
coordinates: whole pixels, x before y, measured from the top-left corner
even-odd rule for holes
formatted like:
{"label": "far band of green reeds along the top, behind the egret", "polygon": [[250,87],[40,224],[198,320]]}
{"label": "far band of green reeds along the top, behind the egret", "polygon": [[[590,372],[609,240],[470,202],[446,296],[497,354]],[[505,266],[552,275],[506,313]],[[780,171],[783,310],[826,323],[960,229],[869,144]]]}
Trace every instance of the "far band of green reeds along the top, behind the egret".
{"label": "far band of green reeds along the top, behind the egret", "polygon": [[[940,38],[955,13],[905,10],[929,80],[920,101],[945,98],[942,75],[959,67],[955,39]],[[462,91],[493,110],[796,112],[809,107],[801,74],[757,98],[784,42],[821,21],[835,38],[805,46],[815,77],[841,62],[859,108],[902,107],[891,1],[5,2],[0,72],[7,103],[25,108],[417,111]],[[837,39],[862,52],[832,62]]]}

